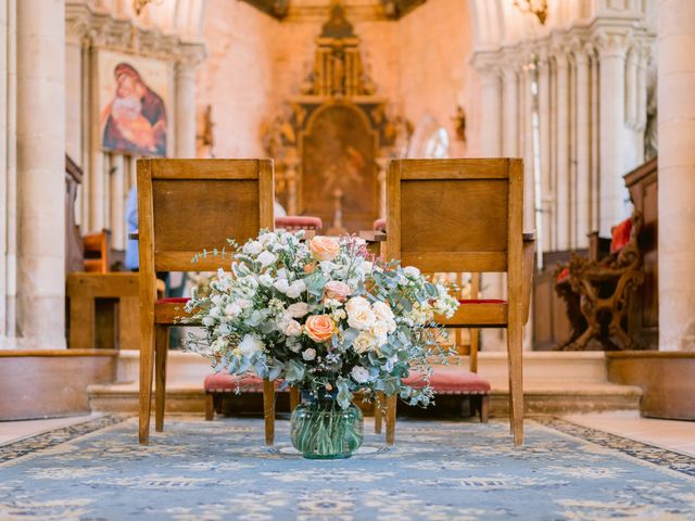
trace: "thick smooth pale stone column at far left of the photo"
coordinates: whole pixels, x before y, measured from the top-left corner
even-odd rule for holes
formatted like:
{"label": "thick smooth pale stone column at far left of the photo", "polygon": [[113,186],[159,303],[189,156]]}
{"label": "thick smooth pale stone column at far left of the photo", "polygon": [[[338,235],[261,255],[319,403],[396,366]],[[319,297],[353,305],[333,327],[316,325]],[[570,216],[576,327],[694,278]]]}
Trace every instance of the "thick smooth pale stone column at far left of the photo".
{"label": "thick smooth pale stone column at far left of the photo", "polygon": [[17,326],[65,347],[65,2],[17,2]]}

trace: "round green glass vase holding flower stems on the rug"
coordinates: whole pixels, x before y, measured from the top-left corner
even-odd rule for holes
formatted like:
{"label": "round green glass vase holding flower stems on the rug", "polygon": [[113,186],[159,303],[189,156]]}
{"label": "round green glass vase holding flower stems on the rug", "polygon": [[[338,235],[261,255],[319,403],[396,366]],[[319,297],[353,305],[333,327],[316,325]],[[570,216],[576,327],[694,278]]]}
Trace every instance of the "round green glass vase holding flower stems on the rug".
{"label": "round green glass vase holding flower stems on the rug", "polygon": [[292,445],[308,459],[345,459],[364,440],[359,407],[338,405],[336,394],[302,391],[302,403],[290,419]]}

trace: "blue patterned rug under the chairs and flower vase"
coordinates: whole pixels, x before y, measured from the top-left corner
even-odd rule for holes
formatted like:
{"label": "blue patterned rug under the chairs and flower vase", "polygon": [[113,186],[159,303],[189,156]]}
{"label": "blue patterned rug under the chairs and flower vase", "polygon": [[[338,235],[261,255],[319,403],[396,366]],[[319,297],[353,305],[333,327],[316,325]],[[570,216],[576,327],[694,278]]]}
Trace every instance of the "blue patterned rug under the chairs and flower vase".
{"label": "blue patterned rug under the chairs and flower vase", "polygon": [[693,520],[695,458],[547,418],[399,421],[352,459],[302,459],[279,421],[175,419],[151,445],[102,417],[0,447],[1,520]]}

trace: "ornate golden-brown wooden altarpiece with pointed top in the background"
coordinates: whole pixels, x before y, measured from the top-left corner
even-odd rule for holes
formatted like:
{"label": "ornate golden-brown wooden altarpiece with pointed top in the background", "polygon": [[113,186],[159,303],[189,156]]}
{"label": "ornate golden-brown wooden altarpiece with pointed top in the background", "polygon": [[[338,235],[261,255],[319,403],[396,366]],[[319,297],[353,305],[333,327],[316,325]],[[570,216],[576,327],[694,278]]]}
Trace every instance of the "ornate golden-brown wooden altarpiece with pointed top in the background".
{"label": "ornate golden-brown wooden altarpiece with pointed top in the background", "polygon": [[300,91],[263,130],[278,200],[290,215],[320,217],[326,232],[370,229],[384,215],[387,163],[407,139],[407,125],[387,116],[339,4]]}

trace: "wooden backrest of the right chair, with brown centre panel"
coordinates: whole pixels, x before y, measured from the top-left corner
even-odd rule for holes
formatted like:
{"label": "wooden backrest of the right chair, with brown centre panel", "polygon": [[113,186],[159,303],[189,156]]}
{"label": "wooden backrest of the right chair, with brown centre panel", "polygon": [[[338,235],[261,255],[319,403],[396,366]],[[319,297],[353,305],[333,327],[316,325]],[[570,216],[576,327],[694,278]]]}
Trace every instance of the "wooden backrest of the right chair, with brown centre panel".
{"label": "wooden backrest of the right chair, with brown centre panel", "polygon": [[[521,278],[523,163],[396,160],[387,180],[387,255],[426,272]],[[517,266],[515,266],[517,265]]]}

